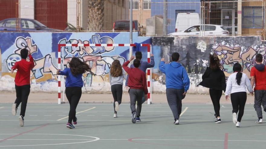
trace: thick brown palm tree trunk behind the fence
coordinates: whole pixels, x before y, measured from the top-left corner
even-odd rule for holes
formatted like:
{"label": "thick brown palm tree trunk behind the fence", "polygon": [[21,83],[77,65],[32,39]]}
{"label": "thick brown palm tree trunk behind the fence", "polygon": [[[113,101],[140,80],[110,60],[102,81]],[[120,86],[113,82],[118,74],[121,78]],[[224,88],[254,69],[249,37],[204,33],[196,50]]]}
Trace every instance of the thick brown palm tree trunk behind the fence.
{"label": "thick brown palm tree trunk behind the fence", "polygon": [[103,8],[105,0],[88,0],[88,30],[100,31],[103,29]]}

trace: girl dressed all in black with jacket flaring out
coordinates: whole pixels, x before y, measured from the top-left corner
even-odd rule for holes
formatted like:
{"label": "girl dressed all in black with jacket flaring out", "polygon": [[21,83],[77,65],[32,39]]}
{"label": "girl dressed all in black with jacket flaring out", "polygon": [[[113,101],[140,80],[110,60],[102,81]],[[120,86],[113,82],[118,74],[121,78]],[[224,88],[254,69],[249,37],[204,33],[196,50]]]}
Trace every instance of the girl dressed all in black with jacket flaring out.
{"label": "girl dressed all in black with jacket flaring out", "polygon": [[220,118],[220,99],[222,97],[222,91],[225,92],[225,74],[222,71],[222,64],[216,54],[210,54],[210,66],[207,67],[205,73],[202,76],[202,85],[209,88],[212,104],[214,107],[216,121],[214,123],[221,123]]}

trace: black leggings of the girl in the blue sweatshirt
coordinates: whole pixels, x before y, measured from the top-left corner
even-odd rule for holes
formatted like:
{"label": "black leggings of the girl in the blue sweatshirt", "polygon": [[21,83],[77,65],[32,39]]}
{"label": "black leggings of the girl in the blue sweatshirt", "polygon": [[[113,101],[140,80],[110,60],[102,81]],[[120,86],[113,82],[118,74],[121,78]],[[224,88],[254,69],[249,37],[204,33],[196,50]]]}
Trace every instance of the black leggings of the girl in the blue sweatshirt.
{"label": "black leggings of the girl in the blue sweatshirt", "polygon": [[73,122],[76,122],[76,108],[81,94],[81,87],[66,87],[66,98],[70,104],[68,123],[72,123],[72,120]]}

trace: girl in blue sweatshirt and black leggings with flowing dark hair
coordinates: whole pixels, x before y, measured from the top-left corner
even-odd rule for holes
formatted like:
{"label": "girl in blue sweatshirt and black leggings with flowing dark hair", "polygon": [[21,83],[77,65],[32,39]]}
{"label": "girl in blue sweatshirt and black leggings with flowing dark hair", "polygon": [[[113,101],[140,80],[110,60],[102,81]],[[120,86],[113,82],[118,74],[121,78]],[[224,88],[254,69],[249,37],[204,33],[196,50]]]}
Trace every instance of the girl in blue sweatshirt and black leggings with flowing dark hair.
{"label": "girl in blue sweatshirt and black leggings with flowing dark hair", "polygon": [[57,70],[57,74],[66,76],[66,98],[70,104],[66,127],[73,129],[77,125],[76,107],[82,94],[82,75],[83,73],[90,71],[91,68],[77,57],[73,57],[68,64],[69,68],[65,68],[63,71]]}

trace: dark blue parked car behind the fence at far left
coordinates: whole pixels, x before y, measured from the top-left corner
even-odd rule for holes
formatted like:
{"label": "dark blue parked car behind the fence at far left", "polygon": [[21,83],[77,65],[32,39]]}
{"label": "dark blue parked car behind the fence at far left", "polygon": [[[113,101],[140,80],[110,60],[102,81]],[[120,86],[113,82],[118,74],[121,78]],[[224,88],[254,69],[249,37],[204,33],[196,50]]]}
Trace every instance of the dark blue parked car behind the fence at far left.
{"label": "dark blue parked car behind the fence at far left", "polygon": [[[18,28],[16,24],[18,24]],[[44,24],[34,19],[8,18],[0,21],[0,31],[60,31],[60,30],[48,28]]]}

